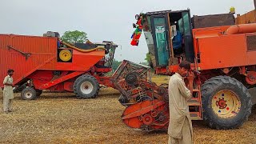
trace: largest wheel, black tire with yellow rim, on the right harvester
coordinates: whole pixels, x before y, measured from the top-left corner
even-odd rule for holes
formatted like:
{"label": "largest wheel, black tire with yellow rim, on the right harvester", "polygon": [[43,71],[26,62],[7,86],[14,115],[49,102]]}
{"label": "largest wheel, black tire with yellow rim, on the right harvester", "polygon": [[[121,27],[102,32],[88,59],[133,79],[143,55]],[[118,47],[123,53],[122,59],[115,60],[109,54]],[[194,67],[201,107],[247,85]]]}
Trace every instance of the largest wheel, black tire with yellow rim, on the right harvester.
{"label": "largest wheel, black tire with yellow rim, on the right harvester", "polygon": [[242,126],[251,106],[248,90],[235,78],[217,76],[202,85],[203,118],[211,128],[227,130]]}

